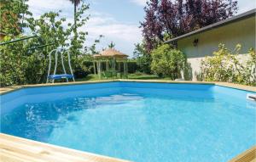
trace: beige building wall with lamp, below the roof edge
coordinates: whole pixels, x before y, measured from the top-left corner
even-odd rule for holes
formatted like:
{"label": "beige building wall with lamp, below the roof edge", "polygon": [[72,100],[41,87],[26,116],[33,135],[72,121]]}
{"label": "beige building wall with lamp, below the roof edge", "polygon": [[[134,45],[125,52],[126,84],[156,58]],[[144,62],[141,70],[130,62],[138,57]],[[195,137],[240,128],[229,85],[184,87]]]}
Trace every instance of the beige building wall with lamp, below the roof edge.
{"label": "beige building wall with lamp, below the roof edge", "polygon": [[[195,39],[199,40],[196,47],[193,45]],[[185,77],[187,80],[196,80],[201,59],[217,51],[219,43],[224,43],[230,49],[240,43],[241,53],[244,53],[241,58],[245,59],[248,49],[255,48],[255,16],[178,40],[177,48],[187,55],[192,69],[192,77]]]}

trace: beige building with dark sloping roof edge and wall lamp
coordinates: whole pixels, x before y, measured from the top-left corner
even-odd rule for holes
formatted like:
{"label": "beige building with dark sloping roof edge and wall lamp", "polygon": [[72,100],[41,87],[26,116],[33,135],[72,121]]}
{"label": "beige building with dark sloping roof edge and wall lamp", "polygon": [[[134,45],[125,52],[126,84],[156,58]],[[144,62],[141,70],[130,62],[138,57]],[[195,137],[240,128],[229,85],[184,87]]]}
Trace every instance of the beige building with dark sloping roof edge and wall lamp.
{"label": "beige building with dark sloping roof edge and wall lamp", "polygon": [[200,73],[201,59],[212,56],[218,50],[219,43],[224,43],[230,49],[240,43],[240,58],[246,59],[248,49],[255,49],[255,15],[256,9],[253,9],[167,41],[176,44],[177,49],[187,55],[191,74],[186,73],[183,77],[196,81],[196,76]]}

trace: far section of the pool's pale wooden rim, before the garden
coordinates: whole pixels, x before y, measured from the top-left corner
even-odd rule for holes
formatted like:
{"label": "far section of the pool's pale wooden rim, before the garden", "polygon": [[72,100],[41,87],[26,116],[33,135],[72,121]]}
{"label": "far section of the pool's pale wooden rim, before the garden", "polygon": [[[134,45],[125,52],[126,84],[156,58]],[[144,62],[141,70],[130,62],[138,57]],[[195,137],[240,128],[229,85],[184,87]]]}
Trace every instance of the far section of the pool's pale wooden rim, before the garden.
{"label": "far section of the pool's pale wooden rim, before the garden", "polygon": [[256,87],[245,86],[241,84],[229,83],[229,82],[219,82],[219,81],[160,81],[160,80],[128,80],[128,79],[116,79],[116,80],[103,80],[103,81],[76,81],[76,82],[65,82],[65,83],[45,83],[45,84],[33,84],[33,85],[20,85],[11,87],[0,87],[0,96],[7,94],[9,92],[15,92],[23,88],[33,88],[33,87],[58,87],[58,86],[72,86],[72,85],[83,85],[83,84],[93,84],[93,83],[108,83],[116,81],[125,82],[147,82],[147,83],[171,83],[171,84],[207,84],[216,85],[220,87],[230,87],[238,90],[256,92]]}

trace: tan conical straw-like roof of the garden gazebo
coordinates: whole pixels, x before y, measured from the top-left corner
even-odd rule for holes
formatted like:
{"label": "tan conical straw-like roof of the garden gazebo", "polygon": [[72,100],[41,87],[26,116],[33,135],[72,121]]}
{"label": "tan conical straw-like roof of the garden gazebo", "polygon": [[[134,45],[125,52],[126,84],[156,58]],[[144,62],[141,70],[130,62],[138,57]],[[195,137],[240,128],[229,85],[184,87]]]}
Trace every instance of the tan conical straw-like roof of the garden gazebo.
{"label": "tan conical straw-like roof of the garden gazebo", "polygon": [[120,53],[118,50],[113,48],[108,48],[103,50],[100,54],[94,55],[94,58],[116,58],[116,59],[126,59],[128,55]]}

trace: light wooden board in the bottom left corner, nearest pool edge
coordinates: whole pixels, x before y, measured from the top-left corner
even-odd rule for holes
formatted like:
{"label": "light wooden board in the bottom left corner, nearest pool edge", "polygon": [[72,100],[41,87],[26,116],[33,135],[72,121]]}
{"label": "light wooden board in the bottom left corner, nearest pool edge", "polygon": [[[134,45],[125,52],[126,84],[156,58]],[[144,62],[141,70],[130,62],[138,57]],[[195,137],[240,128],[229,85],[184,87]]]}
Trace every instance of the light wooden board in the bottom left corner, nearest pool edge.
{"label": "light wooden board in the bottom left corner, nearest pool edge", "polygon": [[0,133],[0,161],[6,162],[128,162],[107,156],[36,142]]}

